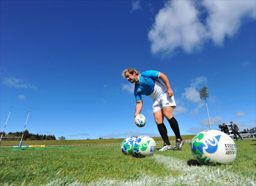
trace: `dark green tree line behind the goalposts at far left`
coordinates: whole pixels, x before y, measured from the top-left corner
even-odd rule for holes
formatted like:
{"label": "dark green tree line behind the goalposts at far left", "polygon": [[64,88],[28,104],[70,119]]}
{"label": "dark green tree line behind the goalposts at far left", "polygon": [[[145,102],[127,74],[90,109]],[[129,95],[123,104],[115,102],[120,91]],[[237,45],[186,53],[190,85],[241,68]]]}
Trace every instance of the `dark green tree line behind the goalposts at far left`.
{"label": "dark green tree line behind the goalposts at far left", "polygon": [[[2,135],[2,140],[20,140],[23,132],[9,132],[5,134],[5,132],[0,132],[0,136]],[[5,138],[4,138],[5,137]],[[24,135],[22,140],[56,140],[54,135],[42,135],[42,134],[32,134],[29,133],[28,130],[24,131]]]}

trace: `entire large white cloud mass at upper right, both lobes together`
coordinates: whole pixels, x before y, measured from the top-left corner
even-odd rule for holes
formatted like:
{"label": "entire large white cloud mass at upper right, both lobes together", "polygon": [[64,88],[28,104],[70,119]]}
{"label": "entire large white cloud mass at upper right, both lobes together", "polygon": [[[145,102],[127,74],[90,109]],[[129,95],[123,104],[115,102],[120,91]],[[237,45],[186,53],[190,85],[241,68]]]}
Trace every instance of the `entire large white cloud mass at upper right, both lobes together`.
{"label": "entire large white cloud mass at upper right, both lobes together", "polygon": [[168,1],[148,32],[151,52],[166,55],[181,48],[191,53],[208,40],[221,45],[226,36],[232,37],[237,32],[245,19],[255,20],[255,6],[255,0]]}

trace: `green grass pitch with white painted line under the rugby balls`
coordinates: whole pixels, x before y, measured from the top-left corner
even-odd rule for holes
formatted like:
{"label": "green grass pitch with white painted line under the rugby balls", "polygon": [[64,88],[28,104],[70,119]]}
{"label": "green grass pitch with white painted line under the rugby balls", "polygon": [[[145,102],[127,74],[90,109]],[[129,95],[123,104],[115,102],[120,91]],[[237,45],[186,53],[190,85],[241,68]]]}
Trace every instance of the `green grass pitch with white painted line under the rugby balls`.
{"label": "green grass pitch with white painted line under the rugby balls", "polygon": [[[107,144],[106,141],[102,143]],[[22,145],[46,145],[46,141],[42,142]],[[155,151],[153,156],[145,158],[125,156],[120,146],[0,148],[0,185],[255,186],[256,141],[239,140],[235,144],[235,161],[220,166],[199,165],[189,143],[181,151]]]}

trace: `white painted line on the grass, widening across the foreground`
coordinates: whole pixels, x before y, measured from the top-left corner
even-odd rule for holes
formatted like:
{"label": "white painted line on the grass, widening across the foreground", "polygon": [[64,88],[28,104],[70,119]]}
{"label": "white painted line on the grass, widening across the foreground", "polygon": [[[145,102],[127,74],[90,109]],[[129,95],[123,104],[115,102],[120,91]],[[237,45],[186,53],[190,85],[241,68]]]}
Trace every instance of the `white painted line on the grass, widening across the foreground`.
{"label": "white painted line on the grass, widening across the foreground", "polygon": [[[134,180],[120,180],[101,178],[90,182],[86,186],[256,186],[255,178],[243,178],[233,172],[229,172],[231,166],[225,170],[215,169],[213,166],[188,166],[185,161],[166,157],[162,155],[153,155],[149,157],[171,171],[177,171],[180,176],[172,177],[166,173],[162,177],[149,177],[141,173],[140,177]],[[162,165],[160,165],[162,164]],[[78,181],[68,183],[65,179],[58,179],[46,184],[45,186],[85,186]]]}

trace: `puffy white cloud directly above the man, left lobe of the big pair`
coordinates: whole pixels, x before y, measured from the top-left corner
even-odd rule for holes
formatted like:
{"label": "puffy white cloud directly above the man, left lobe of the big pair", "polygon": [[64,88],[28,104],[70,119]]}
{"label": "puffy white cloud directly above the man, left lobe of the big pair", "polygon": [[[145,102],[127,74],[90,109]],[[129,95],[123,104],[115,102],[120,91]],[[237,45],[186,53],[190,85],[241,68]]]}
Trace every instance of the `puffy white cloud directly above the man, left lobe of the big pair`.
{"label": "puffy white cloud directly above the man, left lobe of the big pair", "polygon": [[153,53],[171,53],[179,47],[190,53],[200,45],[204,32],[193,2],[172,0],[165,3],[165,7],[155,16],[148,38]]}

